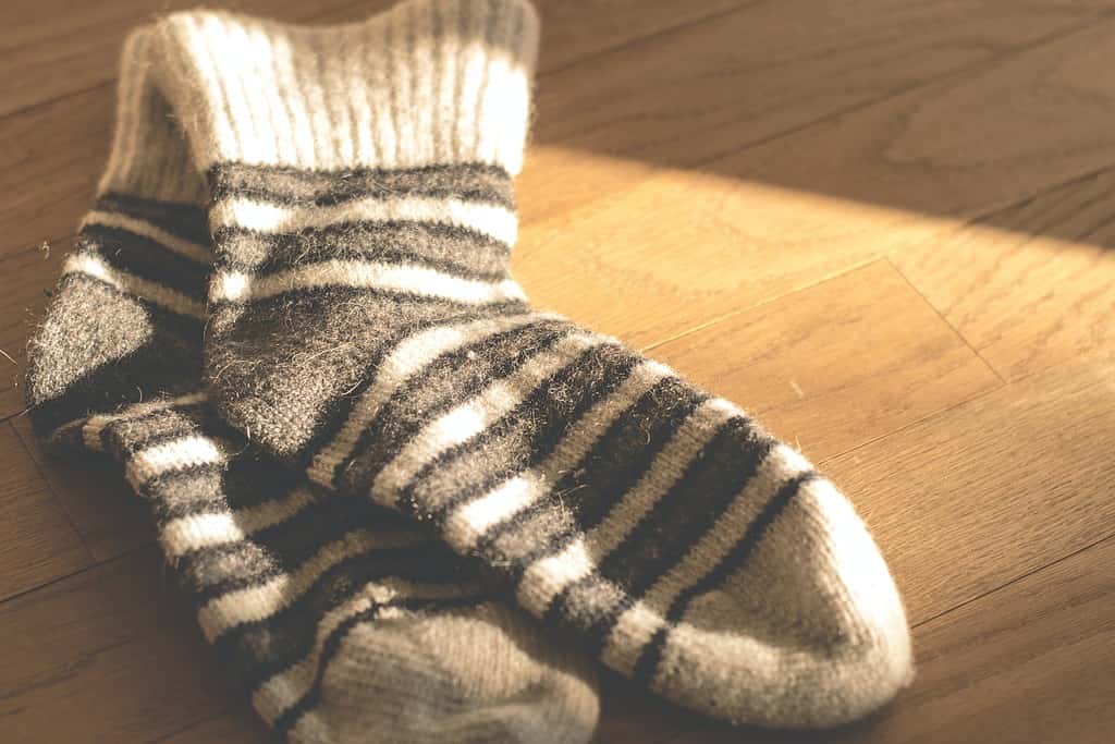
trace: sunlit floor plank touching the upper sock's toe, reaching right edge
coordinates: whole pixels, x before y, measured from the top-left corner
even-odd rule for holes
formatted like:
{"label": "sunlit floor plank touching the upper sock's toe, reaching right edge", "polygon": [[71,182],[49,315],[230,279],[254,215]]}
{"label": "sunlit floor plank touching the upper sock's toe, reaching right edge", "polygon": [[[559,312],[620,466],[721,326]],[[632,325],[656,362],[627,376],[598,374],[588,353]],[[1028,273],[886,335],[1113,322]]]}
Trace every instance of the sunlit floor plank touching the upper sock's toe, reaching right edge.
{"label": "sunlit floor plank touching the upper sock's toe, reaching right edge", "polygon": [[1115,377],[1053,367],[822,463],[913,622],[1115,533]]}

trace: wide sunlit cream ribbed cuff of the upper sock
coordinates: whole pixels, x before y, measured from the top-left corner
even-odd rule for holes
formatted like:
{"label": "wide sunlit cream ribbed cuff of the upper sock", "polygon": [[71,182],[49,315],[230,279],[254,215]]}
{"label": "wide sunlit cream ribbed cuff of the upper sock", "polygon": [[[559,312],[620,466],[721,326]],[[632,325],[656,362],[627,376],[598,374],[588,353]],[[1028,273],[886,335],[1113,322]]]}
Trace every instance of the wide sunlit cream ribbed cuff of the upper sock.
{"label": "wide sunlit cream ribbed cuff of the upper sock", "polygon": [[196,166],[522,167],[539,20],[525,0],[410,0],[361,23],[214,11],[159,25]]}

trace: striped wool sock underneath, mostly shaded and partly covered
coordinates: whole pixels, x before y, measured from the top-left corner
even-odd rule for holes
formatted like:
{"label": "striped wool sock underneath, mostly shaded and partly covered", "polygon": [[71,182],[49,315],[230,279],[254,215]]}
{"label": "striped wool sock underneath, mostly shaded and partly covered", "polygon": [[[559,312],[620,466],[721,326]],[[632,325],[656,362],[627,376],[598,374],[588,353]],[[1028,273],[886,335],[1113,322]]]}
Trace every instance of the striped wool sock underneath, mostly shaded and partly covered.
{"label": "striped wool sock underneath, mostly shaded and partly covered", "polygon": [[96,209],[30,344],[38,432],[105,452],[151,505],[205,637],[292,742],[584,742],[585,660],[481,571],[366,501],[313,487],[198,393],[212,267],[204,184],[126,45]]}

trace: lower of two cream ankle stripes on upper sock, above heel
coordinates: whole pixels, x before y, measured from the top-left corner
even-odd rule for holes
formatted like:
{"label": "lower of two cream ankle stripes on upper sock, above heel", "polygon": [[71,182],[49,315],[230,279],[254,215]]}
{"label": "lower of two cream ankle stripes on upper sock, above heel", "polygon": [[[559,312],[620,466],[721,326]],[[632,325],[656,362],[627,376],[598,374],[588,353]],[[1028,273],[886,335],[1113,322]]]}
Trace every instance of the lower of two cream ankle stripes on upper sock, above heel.
{"label": "lower of two cream ankle stripes on upper sock, above heel", "polygon": [[210,301],[245,301],[316,287],[349,287],[409,292],[467,305],[495,305],[525,300],[512,279],[483,281],[454,277],[427,267],[371,261],[323,261],[264,277],[242,271],[219,271],[210,284]]}

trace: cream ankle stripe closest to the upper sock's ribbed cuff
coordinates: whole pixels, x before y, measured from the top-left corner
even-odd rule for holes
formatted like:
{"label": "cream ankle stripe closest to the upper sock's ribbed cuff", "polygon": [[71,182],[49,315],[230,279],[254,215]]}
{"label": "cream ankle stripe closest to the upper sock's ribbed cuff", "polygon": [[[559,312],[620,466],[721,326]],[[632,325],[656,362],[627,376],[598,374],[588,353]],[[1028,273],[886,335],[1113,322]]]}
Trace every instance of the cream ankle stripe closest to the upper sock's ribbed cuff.
{"label": "cream ankle stripe closest to the upper sock's ribbed cuff", "polygon": [[212,229],[235,226],[264,233],[298,232],[351,222],[427,222],[464,228],[513,245],[518,220],[496,204],[435,196],[366,196],[326,206],[278,204],[230,196],[210,211]]}

